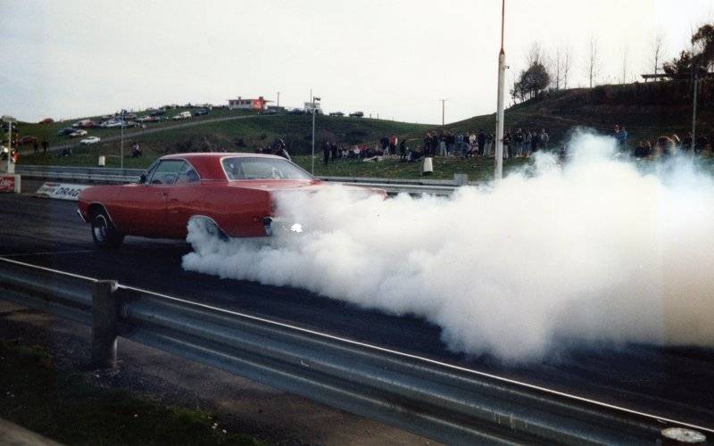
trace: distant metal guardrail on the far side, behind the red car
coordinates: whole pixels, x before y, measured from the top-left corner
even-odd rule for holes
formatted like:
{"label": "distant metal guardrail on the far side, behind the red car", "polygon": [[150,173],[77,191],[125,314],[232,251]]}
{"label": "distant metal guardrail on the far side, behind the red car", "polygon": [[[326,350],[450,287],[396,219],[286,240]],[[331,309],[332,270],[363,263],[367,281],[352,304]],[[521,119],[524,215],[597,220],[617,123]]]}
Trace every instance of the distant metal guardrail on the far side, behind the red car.
{"label": "distant metal guardrail on the far side, behind the red car", "polygon": [[[27,178],[81,181],[90,183],[135,183],[144,169],[80,168],[64,166],[30,166],[19,164],[15,172]],[[330,183],[351,186],[373,186],[385,189],[388,194],[450,195],[458,186],[449,180],[393,179],[361,177],[319,177]]]}

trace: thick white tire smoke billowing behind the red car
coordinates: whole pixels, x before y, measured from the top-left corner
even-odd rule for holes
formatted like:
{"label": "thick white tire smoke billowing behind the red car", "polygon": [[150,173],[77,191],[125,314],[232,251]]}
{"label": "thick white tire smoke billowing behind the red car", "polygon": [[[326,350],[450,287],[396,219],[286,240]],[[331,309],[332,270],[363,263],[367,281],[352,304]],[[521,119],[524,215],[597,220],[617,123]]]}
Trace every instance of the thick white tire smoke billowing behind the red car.
{"label": "thick white tire smoke billowing behind the red car", "polygon": [[[714,181],[691,161],[643,174],[580,134],[560,169],[451,199],[329,187],[278,199],[270,241],[189,225],[186,269],[290,285],[443,330],[454,351],[541,359],[573,343],[714,346]],[[365,327],[369,329],[369,327]]]}

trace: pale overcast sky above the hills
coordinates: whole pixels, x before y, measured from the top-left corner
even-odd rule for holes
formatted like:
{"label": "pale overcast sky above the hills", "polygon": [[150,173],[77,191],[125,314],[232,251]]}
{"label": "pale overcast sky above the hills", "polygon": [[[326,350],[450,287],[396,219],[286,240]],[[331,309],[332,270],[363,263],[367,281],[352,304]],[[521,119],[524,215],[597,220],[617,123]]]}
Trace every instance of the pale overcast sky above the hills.
{"label": "pale overcast sky above the hills", "polygon": [[[79,118],[167,103],[264,96],[325,111],[454,122],[495,111],[500,0],[117,2],[0,0],[0,113]],[[652,72],[655,34],[671,59],[714,0],[506,0],[512,84],[537,43],[574,55],[585,86],[597,41],[598,83]],[[627,55],[627,57],[626,57]],[[627,61],[627,62],[626,62]]]}

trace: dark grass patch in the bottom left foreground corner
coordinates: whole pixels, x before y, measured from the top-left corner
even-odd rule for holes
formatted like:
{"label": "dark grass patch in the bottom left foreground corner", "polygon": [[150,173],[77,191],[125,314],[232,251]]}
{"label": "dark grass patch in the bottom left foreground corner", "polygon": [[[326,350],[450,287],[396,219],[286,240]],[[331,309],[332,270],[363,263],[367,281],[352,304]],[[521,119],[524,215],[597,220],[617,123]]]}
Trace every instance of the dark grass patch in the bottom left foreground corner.
{"label": "dark grass patch in the bottom left foreground corner", "polygon": [[40,347],[0,340],[0,390],[0,417],[66,444],[262,444],[213,414],[87,384]]}

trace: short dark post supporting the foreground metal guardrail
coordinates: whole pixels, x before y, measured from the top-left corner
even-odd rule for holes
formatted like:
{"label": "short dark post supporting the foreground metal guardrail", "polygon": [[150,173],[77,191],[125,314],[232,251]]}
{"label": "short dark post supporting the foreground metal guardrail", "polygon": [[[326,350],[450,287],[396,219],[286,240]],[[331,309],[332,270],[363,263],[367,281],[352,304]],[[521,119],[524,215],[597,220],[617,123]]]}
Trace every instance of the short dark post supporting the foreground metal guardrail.
{"label": "short dark post supporting the foreground metal guardrail", "polygon": [[116,289],[116,281],[100,280],[92,295],[92,366],[95,368],[117,366],[119,299],[114,294]]}

